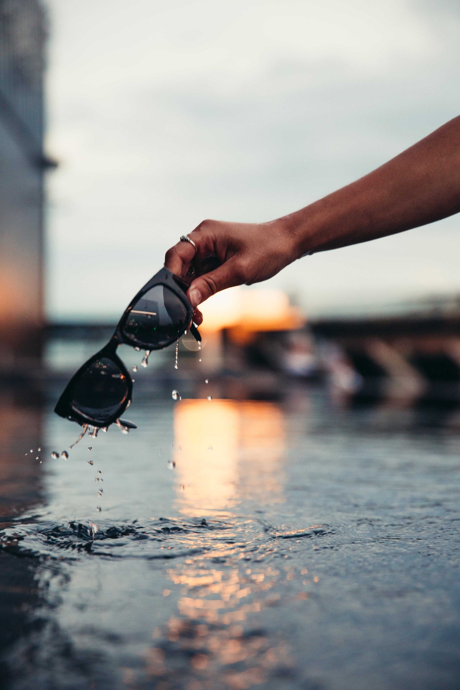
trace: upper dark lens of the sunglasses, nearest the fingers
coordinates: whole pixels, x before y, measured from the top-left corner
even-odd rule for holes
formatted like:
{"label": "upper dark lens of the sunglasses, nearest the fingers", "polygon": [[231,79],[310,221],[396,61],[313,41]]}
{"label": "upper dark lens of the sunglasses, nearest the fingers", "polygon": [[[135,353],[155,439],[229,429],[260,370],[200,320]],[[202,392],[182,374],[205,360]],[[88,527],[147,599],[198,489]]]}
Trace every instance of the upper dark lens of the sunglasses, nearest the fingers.
{"label": "upper dark lens of the sunglasses, nearest the fingers", "polygon": [[122,330],[131,340],[154,348],[166,345],[187,326],[185,304],[166,286],[156,285],[134,304]]}

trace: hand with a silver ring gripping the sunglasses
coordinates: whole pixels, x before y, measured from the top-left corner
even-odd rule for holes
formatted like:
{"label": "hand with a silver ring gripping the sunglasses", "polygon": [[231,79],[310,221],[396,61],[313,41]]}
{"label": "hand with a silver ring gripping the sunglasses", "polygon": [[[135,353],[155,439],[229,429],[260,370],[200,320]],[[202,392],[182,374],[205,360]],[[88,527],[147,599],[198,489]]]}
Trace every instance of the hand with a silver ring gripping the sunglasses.
{"label": "hand with a silver ring gripping the sunglasses", "polygon": [[[297,259],[294,238],[282,219],[270,223],[204,220],[188,236],[196,248],[190,242],[178,242],[166,252],[165,266],[179,277],[190,266],[197,270],[188,289],[194,307],[219,290],[271,278]],[[212,255],[221,265],[200,275],[199,260]],[[201,322],[198,311],[196,316],[196,322]]]}

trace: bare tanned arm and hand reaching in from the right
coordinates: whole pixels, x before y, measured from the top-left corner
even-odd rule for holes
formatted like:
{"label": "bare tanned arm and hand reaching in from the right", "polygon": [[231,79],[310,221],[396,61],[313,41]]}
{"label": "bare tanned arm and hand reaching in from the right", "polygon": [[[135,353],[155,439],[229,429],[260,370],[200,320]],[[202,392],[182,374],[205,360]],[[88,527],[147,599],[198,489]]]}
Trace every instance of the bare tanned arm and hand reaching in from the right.
{"label": "bare tanned arm and hand reaching in from the right", "polygon": [[[197,307],[214,293],[260,282],[306,253],[401,233],[460,212],[460,117],[388,163],[290,215],[267,223],[204,220],[166,253],[165,266],[194,273],[188,297]],[[216,255],[220,266],[199,270]],[[201,323],[199,310],[194,320]]]}

